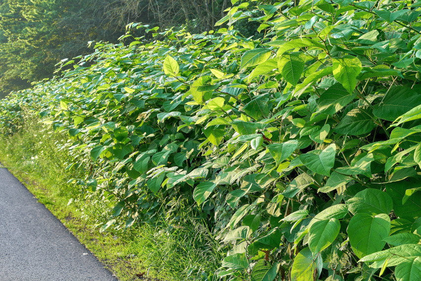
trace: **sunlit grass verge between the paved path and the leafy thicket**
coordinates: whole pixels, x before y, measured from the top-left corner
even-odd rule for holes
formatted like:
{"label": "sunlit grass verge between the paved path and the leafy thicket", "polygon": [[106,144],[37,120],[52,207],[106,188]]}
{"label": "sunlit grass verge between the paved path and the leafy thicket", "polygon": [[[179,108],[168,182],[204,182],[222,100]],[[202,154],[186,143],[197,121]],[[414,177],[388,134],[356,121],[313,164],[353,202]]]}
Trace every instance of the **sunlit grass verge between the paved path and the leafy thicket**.
{"label": "sunlit grass verge between the paved path and the leafy thicket", "polygon": [[[205,223],[186,212],[168,215],[155,225],[100,232],[104,202],[80,198],[67,179],[69,160],[57,145],[64,135],[27,118],[19,133],[0,137],[0,161],[38,201],[44,204],[120,281],[214,280],[222,253]],[[74,200],[74,199],[77,200]],[[99,198],[101,199],[101,198]],[[97,203],[95,203],[97,202]],[[98,203],[100,202],[100,203]],[[101,204],[102,203],[102,204]]]}

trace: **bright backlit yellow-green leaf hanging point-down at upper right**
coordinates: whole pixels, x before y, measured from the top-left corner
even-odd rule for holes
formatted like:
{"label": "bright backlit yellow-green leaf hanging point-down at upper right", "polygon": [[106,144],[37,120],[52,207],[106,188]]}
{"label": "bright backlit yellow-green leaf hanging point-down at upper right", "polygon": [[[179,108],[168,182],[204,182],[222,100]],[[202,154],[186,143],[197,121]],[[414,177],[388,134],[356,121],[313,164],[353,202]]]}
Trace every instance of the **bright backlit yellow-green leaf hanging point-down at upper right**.
{"label": "bright backlit yellow-green leaf hanging point-down at upper right", "polygon": [[356,56],[343,56],[333,58],[333,76],[344,88],[352,93],[357,85],[357,76],[360,74],[362,64]]}

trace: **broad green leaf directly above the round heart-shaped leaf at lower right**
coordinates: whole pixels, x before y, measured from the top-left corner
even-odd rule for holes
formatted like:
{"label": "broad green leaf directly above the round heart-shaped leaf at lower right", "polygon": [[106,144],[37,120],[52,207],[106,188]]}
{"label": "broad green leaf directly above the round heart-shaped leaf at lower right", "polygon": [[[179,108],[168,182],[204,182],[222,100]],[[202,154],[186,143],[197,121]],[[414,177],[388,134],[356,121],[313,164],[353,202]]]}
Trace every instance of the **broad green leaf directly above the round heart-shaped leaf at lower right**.
{"label": "broad green leaf directly above the round heart-shaped leaf at lower right", "polygon": [[367,188],[346,201],[348,210],[354,214],[389,214],[393,208],[392,198],[384,191]]}

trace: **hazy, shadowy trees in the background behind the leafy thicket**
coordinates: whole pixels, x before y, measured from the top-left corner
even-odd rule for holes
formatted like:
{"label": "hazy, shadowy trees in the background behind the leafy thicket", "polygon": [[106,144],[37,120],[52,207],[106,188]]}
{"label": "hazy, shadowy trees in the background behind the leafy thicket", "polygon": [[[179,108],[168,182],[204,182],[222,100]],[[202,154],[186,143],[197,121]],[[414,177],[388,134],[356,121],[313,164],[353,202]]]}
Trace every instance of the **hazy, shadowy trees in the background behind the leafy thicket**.
{"label": "hazy, shadowy trees in the background behind the leafy thicket", "polygon": [[208,31],[230,0],[0,0],[0,93],[51,77],[88,41],[115,43],[130,22]]}

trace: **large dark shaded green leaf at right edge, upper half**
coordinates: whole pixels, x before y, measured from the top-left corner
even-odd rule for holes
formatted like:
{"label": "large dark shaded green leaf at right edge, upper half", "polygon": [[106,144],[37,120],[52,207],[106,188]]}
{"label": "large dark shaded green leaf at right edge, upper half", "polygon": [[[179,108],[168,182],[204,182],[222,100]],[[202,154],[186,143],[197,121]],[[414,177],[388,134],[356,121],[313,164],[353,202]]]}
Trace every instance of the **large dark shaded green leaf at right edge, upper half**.
{"label": "large dark shaded green leaf at right edge, upper half", "polygon": [[394,86],[373,110],[373,114],[381,119],[394,121],[420,104],[421,95],[417,91],[404,86]]}

